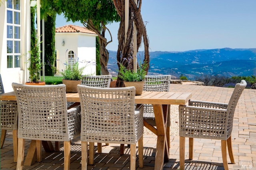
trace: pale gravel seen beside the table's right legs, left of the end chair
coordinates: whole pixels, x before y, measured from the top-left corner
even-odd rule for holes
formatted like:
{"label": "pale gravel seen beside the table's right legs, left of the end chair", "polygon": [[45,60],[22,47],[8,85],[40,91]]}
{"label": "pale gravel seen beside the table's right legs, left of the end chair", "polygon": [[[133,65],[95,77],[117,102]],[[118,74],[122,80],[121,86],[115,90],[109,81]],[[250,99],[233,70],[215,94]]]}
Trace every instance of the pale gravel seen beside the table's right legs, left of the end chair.
{"label": "pale gravel seen beside the table's right legs, left of the end chair", "polygon": [[[170,135],[179,136],[179,105],[171,105],[171,127]],[[144,134],[153,134],[148,128],[144,127]]]}

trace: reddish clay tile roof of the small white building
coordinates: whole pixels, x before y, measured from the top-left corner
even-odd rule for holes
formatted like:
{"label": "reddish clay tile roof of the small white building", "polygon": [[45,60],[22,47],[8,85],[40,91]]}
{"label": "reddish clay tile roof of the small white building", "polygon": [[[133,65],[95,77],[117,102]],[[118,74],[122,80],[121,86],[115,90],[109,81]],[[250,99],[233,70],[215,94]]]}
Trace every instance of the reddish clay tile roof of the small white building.
{"label": "reddish clay tile roof of the small white building", "polygon": [[75,25],[66,25],[58,27],[55,29],[55,32],[81,32],[87,34],[96,34],[94,31],[88,30],[85,27],[75,26]]}

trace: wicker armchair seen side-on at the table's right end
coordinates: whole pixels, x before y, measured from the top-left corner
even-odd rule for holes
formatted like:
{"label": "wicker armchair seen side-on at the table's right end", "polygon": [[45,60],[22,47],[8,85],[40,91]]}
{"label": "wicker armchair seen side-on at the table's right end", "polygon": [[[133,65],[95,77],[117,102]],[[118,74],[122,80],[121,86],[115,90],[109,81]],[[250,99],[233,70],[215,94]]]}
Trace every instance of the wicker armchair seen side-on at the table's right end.
{"label": "wicker armchair seen side-on at the table's right end", "polygon": [[185,168],[185,137],[189,138],[189,159],[193,159],[193,138],[221,140],[224,169],[228,170],[226,147],[234,164],[231,132],[238,99],[246,81],[237,83],[228,104],[190,100],[189,106],[180,105],[180,170]]}

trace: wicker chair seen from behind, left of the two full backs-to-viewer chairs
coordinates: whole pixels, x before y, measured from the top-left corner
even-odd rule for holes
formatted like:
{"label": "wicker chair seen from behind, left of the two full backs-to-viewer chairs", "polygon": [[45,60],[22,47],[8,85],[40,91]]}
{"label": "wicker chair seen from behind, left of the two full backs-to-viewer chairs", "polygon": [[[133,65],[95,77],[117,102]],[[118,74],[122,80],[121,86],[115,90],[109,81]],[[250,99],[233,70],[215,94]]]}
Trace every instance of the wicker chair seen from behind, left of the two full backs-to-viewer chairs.
{"label": "wicker chair seen from behind, left of the two full backs-to-viewer chairs", "polygon": [[[22,169],[24,139],[36,147],[37,162],[42,160],[42,140],[64,142],[64,170],[70,168],[70,141],[80,135],[80,106],[67,109],[66,87],[61,85],[22,85],[12,83],[18,103],[18,160]],[[34,150],[34,151],[35,151]],[[32,158],[35,153],[28,153]],[[25,163],[26,163],[25,160]],[[25,164],[24,163],[24,164]]]}

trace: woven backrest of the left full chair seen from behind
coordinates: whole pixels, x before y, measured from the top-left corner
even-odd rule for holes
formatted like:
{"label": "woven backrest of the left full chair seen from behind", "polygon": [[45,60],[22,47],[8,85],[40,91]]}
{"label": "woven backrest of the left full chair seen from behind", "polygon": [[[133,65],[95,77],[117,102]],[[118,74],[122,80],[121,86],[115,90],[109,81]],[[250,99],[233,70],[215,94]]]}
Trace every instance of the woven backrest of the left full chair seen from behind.
{"label": "woven backrest of the left full chair seen from behind", "polygon": [[[66,87],[12,83],[18,103],[18,138],[69,141]],[[70,131],[69,131],[70,130]]]}

